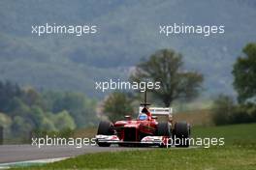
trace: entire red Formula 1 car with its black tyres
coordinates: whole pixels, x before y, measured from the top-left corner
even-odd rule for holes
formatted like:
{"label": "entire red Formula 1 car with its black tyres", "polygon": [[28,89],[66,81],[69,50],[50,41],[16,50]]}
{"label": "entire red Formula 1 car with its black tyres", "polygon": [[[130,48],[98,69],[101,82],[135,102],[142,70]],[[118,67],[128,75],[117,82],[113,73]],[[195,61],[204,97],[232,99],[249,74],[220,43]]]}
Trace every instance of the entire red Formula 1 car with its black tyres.
{"label": "entire red Formula 1 car with its black tyres", "polygon": [[[99,124],[96,142],[100,147],[109,147],[111,144],[119,146],[159,146],[168,147],[172,140],[179,139],[176,147],[188,147],[190,126],[186,122],[173,125],[172,108],[147,107],[142,104],[139,116],[132,120],[125,116],[126,120],[115,123],[102,121]],[[159,121],[157,121],[159,120]],[[184,142],[180,142],[180,140]]]}

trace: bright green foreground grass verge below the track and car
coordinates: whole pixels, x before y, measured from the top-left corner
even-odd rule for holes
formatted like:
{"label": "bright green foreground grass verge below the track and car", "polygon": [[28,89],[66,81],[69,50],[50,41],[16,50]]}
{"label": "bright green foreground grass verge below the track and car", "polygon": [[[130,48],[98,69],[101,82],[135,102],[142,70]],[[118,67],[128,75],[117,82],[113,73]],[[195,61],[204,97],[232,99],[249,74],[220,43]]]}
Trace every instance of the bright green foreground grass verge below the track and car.
{"label": "bright green foreground grass verge below the track and car", "polygon": [[153,149],[88,154],[25,169],[238,169],[256,167],[255,147]]}

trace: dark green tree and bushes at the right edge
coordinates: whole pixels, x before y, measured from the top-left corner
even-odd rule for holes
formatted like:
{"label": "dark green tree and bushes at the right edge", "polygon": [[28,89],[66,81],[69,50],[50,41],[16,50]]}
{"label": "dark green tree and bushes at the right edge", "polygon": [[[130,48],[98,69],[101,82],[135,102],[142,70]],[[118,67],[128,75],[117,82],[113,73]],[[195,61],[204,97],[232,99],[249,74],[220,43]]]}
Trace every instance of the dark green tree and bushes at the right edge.
{"label": "dark green tree and bushes at the right edge", "polygon": [[242,52],[232,71],[239,103],[223,95],[215,99],[213,121],[216,125],[256,122],[256,43],[248,43]]}

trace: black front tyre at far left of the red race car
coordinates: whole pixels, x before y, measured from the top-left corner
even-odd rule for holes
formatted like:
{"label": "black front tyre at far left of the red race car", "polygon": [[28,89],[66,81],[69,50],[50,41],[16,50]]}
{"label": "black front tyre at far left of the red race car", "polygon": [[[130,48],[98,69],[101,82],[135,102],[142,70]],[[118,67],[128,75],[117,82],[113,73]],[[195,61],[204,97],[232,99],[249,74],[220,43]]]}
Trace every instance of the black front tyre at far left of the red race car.
{"label": "black front tyre at far left of the red race car", "polygon": [[[98,127],[98,132],[97,134],[102,134],[102,135],[112,135],[112,123],[108,121],[101,121]],[[97,144],[100,147],[110,147],[110,143],[106,142],[97,142]]]}

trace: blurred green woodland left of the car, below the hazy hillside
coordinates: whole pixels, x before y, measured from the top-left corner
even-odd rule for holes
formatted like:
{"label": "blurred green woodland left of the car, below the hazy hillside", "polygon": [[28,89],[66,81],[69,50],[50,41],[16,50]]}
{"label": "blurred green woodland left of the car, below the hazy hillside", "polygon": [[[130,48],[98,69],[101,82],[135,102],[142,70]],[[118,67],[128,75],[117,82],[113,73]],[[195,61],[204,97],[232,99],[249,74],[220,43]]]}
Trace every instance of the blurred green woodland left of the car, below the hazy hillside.
{"label": "blurred green woodland left of the car, below the hazy hillside", "polygon": [[8,141],[26,141],[34,130],[84,128],[97,123],[96,103],[79,93],[38,92],[0,81],[0,126]]}

